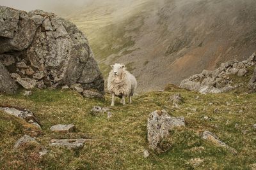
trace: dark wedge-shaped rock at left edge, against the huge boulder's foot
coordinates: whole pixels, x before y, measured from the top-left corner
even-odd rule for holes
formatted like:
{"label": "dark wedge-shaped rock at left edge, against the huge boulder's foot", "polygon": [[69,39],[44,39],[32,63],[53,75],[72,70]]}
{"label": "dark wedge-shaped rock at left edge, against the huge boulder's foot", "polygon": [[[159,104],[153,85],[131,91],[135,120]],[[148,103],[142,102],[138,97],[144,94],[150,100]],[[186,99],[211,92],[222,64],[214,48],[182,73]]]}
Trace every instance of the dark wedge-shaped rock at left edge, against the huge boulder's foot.
{"label": "dark wedge-shaped rock at left edge, against the huge boulder's foot", "polygon": [[17,90],[17,85],[12,79],[6,67],[0,62],[0,93],[13,94]]}

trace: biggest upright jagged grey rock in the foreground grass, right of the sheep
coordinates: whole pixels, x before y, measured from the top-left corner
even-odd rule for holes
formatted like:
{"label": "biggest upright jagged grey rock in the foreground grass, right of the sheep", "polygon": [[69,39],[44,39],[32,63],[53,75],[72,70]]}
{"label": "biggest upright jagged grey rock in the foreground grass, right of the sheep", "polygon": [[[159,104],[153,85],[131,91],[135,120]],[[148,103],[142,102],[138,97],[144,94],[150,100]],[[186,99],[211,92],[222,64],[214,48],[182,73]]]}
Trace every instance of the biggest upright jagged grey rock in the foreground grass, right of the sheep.
{"label": "biggest upright jagged grey rock in the foreground grass, right of the sheep", "polygon": [[185,126],[184,117],[170,117],[165,110],[153,111],[148,115],[147,139],[149,147],[157,150],[159,143],[169,136],[173,127]]}

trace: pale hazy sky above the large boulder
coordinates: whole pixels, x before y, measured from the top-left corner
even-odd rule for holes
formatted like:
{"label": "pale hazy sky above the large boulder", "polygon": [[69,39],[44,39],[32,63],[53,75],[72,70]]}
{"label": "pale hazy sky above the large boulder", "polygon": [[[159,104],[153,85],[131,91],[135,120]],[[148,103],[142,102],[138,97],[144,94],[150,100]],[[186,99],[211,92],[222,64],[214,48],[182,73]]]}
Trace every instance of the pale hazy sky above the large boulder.
{"label": "pale hazy sky above the large boulder", "polygon": [[93,0],[0,0],[0,5],[24,11],[44,10],[67,15],[92,2]]}

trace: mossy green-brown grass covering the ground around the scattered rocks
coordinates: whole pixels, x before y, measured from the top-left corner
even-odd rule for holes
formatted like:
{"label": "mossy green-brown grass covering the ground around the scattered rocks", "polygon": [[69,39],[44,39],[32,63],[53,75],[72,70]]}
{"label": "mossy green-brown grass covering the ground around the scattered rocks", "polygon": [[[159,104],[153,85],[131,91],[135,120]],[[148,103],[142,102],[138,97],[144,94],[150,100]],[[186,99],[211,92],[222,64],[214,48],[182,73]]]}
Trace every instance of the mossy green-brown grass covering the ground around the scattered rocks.
{"label": "mossy green-brown grass covering the ground around the scattered rocks", "polygon": [[[184,97],[180,109],[172,108],[168,101],[168,97],[177,92]],[[256,163],[256,130],[252,128],[256,123],[255,101],[256,94],[202,95],[173,86],[164,92],[140,94],[134,97],[132,105],[122,106],[116,101],[115,107],[109,106],[109,96],[105,101],[85,99],[72,91],[35,90],[29,97],[22,96],[22,92],[1,96],[1,106],[27,108],[42,124],[39,131],[24,120],[0,111],[1,169],[193,169],[189,163],[193,158],[204,159],[197,169],[248,169]],[[93,106],[108,106],[113,116],[110,119],[106,113],[93,116],[90,112]],[[216,108],[218,112],[214,113]],[[170,138],[165,141],[166,146],[170,146],[166,152],[149,150],[150,156],[145,159],[148,114],[163,109],[172,116],[184,116],[186,127],[170,131]],[[209,120],[204,120],[204,116]],[[54,134],[49,128],[55,124],[75,124],[77,131]],[[232,155],[201,139],[200,133],[204,130],[214,132],[236,148],[238,154]],[[246,134],[241,132],[244,130]],[[49,153],[39,158],[36,149],[14,152],[15,141],[24,134],[38,136],[36,140]],[[72,151],[49,146],[52,138],[92,138],[93,141],[86,142],[79,151]]]}

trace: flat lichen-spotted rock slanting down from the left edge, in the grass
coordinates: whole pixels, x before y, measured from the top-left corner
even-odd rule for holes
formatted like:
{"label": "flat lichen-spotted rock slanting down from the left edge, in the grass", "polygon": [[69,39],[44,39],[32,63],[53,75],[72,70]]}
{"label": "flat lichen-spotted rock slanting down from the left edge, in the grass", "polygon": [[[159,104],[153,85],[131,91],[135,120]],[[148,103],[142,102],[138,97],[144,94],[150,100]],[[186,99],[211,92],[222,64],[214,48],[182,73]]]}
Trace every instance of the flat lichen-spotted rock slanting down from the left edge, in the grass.
{"label": "flat lichen-spotted rock slanting down from the left edge, in the grass", "polygon": [[38,120],[36,119],[34,114],[29,110],[17,110],[15,108],[1,108],[1,107],[0,107],[0,110],[4,111],[5,113],[8,113],[10,115],[13,115],[15,117],[23,118],[29,124],[36,125],[37,127],[39,127],[41,129],[41,126],[40,126]]}

